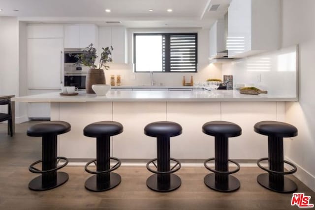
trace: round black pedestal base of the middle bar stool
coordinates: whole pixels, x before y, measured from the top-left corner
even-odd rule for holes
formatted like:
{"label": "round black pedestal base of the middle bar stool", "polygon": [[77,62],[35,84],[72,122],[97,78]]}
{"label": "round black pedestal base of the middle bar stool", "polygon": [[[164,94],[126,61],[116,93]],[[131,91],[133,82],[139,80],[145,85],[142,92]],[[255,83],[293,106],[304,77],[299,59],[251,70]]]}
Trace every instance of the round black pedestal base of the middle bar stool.
{"label": "round black pedestal base of the middle bar stool", "polygon": [[170,192],[181,186],[182,181],[179,176],[169,174],[170,182],[167,184],[158,184],[158,174],[153,174],[147,179],[147,186],[157,192]]}

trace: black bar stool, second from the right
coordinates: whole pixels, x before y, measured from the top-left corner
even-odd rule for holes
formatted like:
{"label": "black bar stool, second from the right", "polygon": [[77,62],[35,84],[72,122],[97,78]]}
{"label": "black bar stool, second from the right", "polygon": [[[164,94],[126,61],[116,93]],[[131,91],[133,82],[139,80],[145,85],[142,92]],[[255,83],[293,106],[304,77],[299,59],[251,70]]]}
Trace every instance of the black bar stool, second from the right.
{"label": "black bar stool, second from the right", "polygon": [[[230,175],[240,170],[240,165],[228,158],[228,138],[242,134],[238,125],[226,121],[211,121],[202,126],[202,132],[215,136],[215,157],[206,159],[204,166],[214,173],[204,178],[204,183],[211,189],[220,192],[232,192],[240,188],[240,181]],[[207,162],[215,160],[215,169],[207,166]],[[228,171],[228,161],[236,164],[237,169]]]}

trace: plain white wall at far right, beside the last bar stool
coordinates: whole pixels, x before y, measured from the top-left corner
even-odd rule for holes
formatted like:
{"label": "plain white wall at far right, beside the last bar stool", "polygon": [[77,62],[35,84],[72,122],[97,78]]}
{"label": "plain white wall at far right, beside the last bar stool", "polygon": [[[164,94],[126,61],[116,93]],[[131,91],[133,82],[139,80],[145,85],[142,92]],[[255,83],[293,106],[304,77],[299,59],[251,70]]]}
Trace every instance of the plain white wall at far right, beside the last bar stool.
{"label": "plain white wall at far right, beside the last bar stool", "polygon": [[298,166],[295,175],[315,191],[315,0],[283,0],[283,47],[299,44],[299,102],[285,104],[286,122],[297,127],[285,141],[285,157]]}

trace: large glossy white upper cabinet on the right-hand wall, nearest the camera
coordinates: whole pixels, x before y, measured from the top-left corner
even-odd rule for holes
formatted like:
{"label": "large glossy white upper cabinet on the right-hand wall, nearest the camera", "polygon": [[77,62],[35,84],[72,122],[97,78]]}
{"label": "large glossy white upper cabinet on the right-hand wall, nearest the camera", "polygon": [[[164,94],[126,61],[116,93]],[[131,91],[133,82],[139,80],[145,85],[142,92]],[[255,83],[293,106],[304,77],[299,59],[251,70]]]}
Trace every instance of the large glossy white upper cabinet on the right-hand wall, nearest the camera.
{"label": "large glossy white upper cabinet on the right-hand wall, nearest the camera", "polygon": [[280,0],[232,0],[228,8],[228,56],[279,49],[280,14]]}

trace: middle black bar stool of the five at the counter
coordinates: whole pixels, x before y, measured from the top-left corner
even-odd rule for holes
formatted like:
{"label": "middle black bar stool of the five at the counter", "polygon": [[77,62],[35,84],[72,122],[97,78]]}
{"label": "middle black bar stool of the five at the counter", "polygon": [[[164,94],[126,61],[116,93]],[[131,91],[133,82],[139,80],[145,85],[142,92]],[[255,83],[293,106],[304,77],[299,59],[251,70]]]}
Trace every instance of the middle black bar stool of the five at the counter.
{"label": "middle black bar stool of the five at the counter", "polygon": [[[181,186],[182,181],[177,175],[172,174],[181,168],[179,160],[170,157],[170,137],[182,134],[182,126],[168,121],[160,121],[148,124],[144,128],[144,134],[157,137],[157,157],[147,163],[147,169],[152,173],[147,179],[147,186],[158,192],[169,192]],[[170,160],[176,162],[171,168]],[[157,163],[155,163],[157,161]],[[153,163],[157,170],[149,167]]]}

